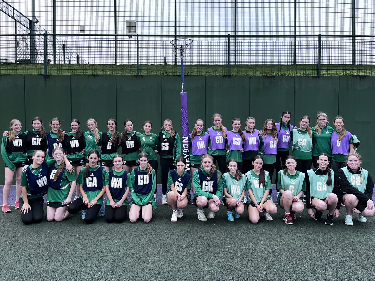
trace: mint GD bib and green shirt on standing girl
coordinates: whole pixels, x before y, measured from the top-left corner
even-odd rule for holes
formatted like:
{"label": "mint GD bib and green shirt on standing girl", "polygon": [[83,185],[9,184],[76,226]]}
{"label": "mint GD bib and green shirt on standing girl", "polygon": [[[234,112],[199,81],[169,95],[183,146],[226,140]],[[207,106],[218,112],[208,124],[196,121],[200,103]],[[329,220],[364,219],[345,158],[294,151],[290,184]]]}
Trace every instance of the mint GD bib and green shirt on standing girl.
{"label": "mint GD bib and green shirt on standing girl", "polygon": [[293,152],[292,155],[296,159],[308,160],[312,155],[312,139],[309,133],[299,128],[293,129]]}

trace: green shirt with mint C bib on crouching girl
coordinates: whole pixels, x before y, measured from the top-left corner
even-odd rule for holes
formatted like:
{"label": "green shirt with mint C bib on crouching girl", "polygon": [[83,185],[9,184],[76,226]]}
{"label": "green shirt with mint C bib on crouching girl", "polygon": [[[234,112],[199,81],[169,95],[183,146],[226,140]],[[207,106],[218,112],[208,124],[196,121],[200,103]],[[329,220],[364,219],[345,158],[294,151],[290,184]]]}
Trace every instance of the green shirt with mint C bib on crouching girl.
{"label": "green shirt with mint C bib on crouching girl", "polygon": [[[293,196],[297,196],[300,191],[306,191],[305,173],[296,171],[294,175],[290,175],[287,170],[287,174],[284,175],[284,170],[279,171],[277,189],[289,190],[293,193]],[[278,196],[278,203],[280,202],[282,194]]]}

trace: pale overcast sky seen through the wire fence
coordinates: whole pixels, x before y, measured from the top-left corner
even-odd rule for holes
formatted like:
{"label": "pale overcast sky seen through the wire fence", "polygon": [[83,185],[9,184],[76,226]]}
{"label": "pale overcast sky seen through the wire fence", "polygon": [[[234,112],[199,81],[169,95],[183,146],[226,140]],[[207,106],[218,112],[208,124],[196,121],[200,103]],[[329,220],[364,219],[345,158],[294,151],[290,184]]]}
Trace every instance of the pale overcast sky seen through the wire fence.
{"label": "pale overcast sky seen through the wire fence", "polygon": [[[27,17],[31,18],[31,0],[7,0]],[[1,0],[0,0],[1,3]],[[52,0],[36,0],[36,15],[40,16],[38,25],[52,33]],[[57,0],[56,33],[80,33],[80,25],[84,25],[85,34],[114,33],[114,1]],[[299,0],[297,3],[297,34],[352,34],[352,0]],[[237,34],[293,34],[294,0],[238,0],[237,1]],[[1,13],[1,33],[13,34],[14,21]],[[126,34],[126,21],[136,21],[139,34],[174,34],[174,0],[121,1],[117,0],[117,33]],[[356,34],[375,34],[374,0],[356,0]],[[26,32],[18,28],[18,33]],[[234,0],[177,0],[177,34],[234,34]],[[77,38],[77,37],[75,37]],[[174,62],[174,52],[168,42],[173,37],[141,38],[141,63]],[[191,64],[226,64],[227,38],[193,37],[192,56],[186,63]],[[113,38],[80,38],[69,41],[59,38],[69,48],[80,53],[91,63],[114,63]],[[70,39],[71,40],[71,39]],[[351,39],[341,37],[324,38],[322,48],[329,49],[329,56],[323,57],[323,63],[335,63],[338,55],[341,62],[350,63]],[[357,39],[358,40],[358,39]],[[4,41],[2,39],[2,41]],[[10,42],[10,43],[9,43]],[[9,39],[3,48],[0,58],[14,53],[14,37]],[[4,42],[2,42],[4,44]],[[26,43],[25,43],[26,44]],[[131,51],[128,54],[127,46]],[[368,42],[358,40],[362,46],[363,63]],[[372,39],[374,46],[374,38]],[[8,46],[9,45],[9,46]],[[13,46],[12,46],[13,45]],[[232,43],[233,48],[234,44]],[[92,48],[94,47],[94,48]],[[119,63],[135,63],[135,37],[122,37],[118,40]],[[167,48],[168,47],[168,48]],[[316,63],[317,39],[301,37],[297,40],[297,62]],[[5,51],[8,50],[8,51]],[[231,49],[232,50],[232,49]],[[273,38],[238,38],[237,63],[279,63],[293,62],[293,39]],[[231,51],[233,52],[233,50]],[[289,54],[289,55],[285,55]],[[322,52],[322,55],[328,54]],[[361,60],[360,55],[358,60]],[[369,62],[371,63],[371,61]],[[374,63],[374,62],[372,62]]]}

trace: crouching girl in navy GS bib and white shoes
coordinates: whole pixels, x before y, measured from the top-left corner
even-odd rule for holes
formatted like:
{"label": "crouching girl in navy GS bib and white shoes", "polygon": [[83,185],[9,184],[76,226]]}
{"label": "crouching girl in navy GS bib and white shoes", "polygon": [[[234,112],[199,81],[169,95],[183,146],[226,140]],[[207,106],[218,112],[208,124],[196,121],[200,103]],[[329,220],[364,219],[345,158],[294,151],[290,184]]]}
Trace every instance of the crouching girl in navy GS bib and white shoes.
{"label": "crouching girl in navy GS bib and white shoes", "polygon": [[166,202],[172,208],[171,221],[176,222],[183,217],[183,209],[186,208],[188,199],[187,192],[190,191],[191,175],[185,172],[186,161],[180,156],[176,160],[176,169],[168,173],[169,188]]}

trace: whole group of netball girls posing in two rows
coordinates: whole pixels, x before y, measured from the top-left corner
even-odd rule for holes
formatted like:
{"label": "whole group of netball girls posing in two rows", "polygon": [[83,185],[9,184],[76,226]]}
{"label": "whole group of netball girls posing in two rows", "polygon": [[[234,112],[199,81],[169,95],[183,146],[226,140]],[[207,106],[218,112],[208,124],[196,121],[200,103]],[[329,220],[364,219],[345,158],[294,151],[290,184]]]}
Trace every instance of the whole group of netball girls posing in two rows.
{"label": "whole group of netball girls posing in two rows", "polygon": [[[336,173],[339,172],[338,170],[347,163],[345,157],[347,157],[349,152],[352,154],[354,142],[359,141],[343,128],[344,120],[342,117],[336,117],[334,120],[336,131],[327,125],[328,118],[324,113],[318,114],[317,125],[312,129],[309,128],[310,118],[308,116],[302,117],[300,119],[300,126],[295,129],[290,125],[290,118],[291,113],[289,111],[284,111],[282,112],[280,123],[275,124],[272,119],[267,119],[263,129],[260,131],[254,129],[255,119],[252,117],[246,120],[245,131],[240,129],[241,121],[238,118],[232,120],[233,130],[230,131],[221,124],[222,118],[220,114],[215,114],[213,116],[214,126],[210,127],[207,132],[203,130],[203,120],[197,120],[192,133],[189,135],[192,180],[189,178],[190,174],[184,172],[186,163],[182,157],[179,157],[180,139],[178,134],[173,130],[171,120],[164,121],[162,132],[160,132],[159,135],[151,133],[152,124],[150,121],[145,121],[143,125],[144,133],[141,134],[133,131],[133,123],[131,120],[126,120],[124,122],[125,131],[120,134],[115,130],[117,125],[116,121],[110,119],[107,122],[109,130],[107,133],[103,134],[99,132],[94,119],[90,118],[88,120],[87,126],[89,127],[89,131],[86,133],[80,130],[80,122],[74,119],[71,121],[71,131],[65,134],[65,132],[60,129],[61,123],[58,118],[53,118],[51,120],[50,126],[52,130],[48,133],[45,132],[42,120],[39,117],[34,118],[32,121],[33,130],[26,133],[20,133],[21,123],[19,120],[12,120],[10,122],[10,128],[12,130],[4,133],[1,146],[1,154],[6,163],[3,212],[10,211],[7,206],[7,200],[14,172],[16,172],[17,183],[15,205],[16,208],[19,208],[18,197],[21,193],[20,186],[27,187],[23,185],[26,184],[25,181],[21,182],[21,169],[26,164],[32,163],[29,170],[31,170],[31,173],[36,173],[40,167],[38,163],[34,163],[34,158],[30,158],[30,155],[36,151],[46,151],[48,153],[46,163],[48,163],[49,166],[54,164],[57,168],[62,164],[61,159],[57,162],[57,159],[54,157],[54,152],[56,152],[55,148],[60,148],[57,149],[57,154],[62,153],[65,157],[66,151],[65,158],[67,159],[67,163],[66,167],[60,169],[58,175],[64,171],[63,175],[65,175],[65,178],[64,181],[62,181],[63,175],[61,175],[60,179],[59,176],[55,176],[56,172],[54,172],[53,175],[51,174],[50,178],[55,178],[54,182],[57,181],[57,184],[52,184],[54,187],[51,188],[69,192],[66,193],[64,200],[61,200],[61,196],[51,197],[59,198],[58,200],[54,199],[55,201],[57,200],[56,202],[52,202],[52,199],[48,200],[49,197],[47,198],[47,201],[51,202],[47,203],[48,207],[53,209],[53,211],[51,211],[51,209],[50,212],[48,212],[50,208],[47,208],[47,213],[50,213],[47,214],[48,220],[60,221],[69,213],[87,209],[89,215],[87,219],[85,217],[85,221],[91,223],[95,221],[99,210],[101,208],[104,209],[103,195],[106,193],[108,200],[107,206],[105,207],[105,214],[107,214],[107,208],[109,206],[114,210],[115,208],[121,207],[120,209],[122,210],[122,212],[117,212],[117,215],[115,215],[114,211],[108,211],[108,214],[112,214],[112,216],[110,218],[106,215],[106,220],[108,218],[107,221],[121,221],[124,215],[126,215],[125,198],[129,193],[127,188],[130,188],[130,185],[126,185],[130,184],[127,177],[129,172],[131,172],[132,179],[134,179],[135,176],[139,177],[137,178],[138,181],[132,180],[132,182],[138,184],[137,187],[133,184],[135,194],[142,194],[142,196],[138,196],[134,199],[133,193],[130,193],[134,199],[132,200],[132,202],[135,203],[134,206],[139,206],[139,208],[134,207],[133,212],[132,209],[130,209],[129,218],[131,221],[136,221],[139,214],[142,213],[144,220],[149,221],[152,217],[152,210],[156,208],[156,171],[158,167],[156,154],[160,154],[163,191],[162,203],[171,205],[173,209],[171,221],[177,221],[177,218],[182,217],[182,210],[189,202],[190,186],[193,191],[194,202],[198,207],[197,213],[199,220],[214,217],[215,212],[219,209],[219,198],[221,195],[223,195],[224,204],[228,207],[228,220],[233,221],[234,218],[240,217],[243,213],[244,203],[248,204],[249,219],[253,223],[259,220],[259,212],[264,213],[264,218],[266,220],[272,220],[270,214],[274,214],[277,211],[274,206],[275,204],[273,204],[269,196],[272,192],[271,179],[275,169],[276,188],[278,190],[277,201],[280,206],[285,209],[285,223],[293,224],[295,214],[303,211],[302,191],[305,191],[305,196],[308,201],[311,199],[311,202],[306,203],[306,207],[308,208],[311,205],[317,210],[314,214],[314,211],[308,208],[309,215],[317,220],[322,220],[321,208],[324,207],[324,204],[320,201],[318,201],[321,203],[320,205],[315,203],[318,199],[321,199],[321,195],[318,197],[318,195],[314,193],[314,196],[311,196],[313,193],[310,193],[309,187],[306,187],[306,182],[310,182],[306,178],[306,175],[312,175],[310,170],[311,159],[315,160],[313,161],[315,175],[319,173],[323,175],[324,171],[328,168],[327,174],[324,175],[329,175],[329,178],[333,175],[332,177],[334,178]],[[290,156],[289,149],[292,142],[293,154]],[[26,143],[26,145],[23,145],[23,143]],[[118,155],[117,152],[120,147],[122,148],[122,155]],[[143,152],[142,157],[140,157],[141,154],[139,154],[139,151]],[[321,152],[324,152],[325,155],[320,155]],[[261,156],[258,156],[258,154]],[[61,155],[56,156],[60,157]],[[325,169],[323,169],[323,166],[318,167],[320,163],[318,156],[319,158],[327,158],[328,164]],[[351,157],[355,156],[356,155],[351,155]],[[328,166],[331,157],[333,171],[330,170]],[[358,157],[358,155],[356,157]],[[122,158],[123,161],[121,165],[120,158]],[[147,160],[143,159],[146,161],[146,163],[143,163],[143,166],[139,162],[140,158],[145,158]],[[50,163],[48,162],[49,160],[54,160],[56,162],[52,161]],[[214,165],[216,161],[220,172]],[[98,162],[101,164],[100,166]],[[89,167],[85,167],[85,163]],[[176,166],[176,169],[173,169],[174,166]],[[111,170],[111,168],[114,168],[114,170]],[[73,179],[75,178],[69,176],[68,170],[71,169],[75,169],[77,181],[74,181]],[[337,170],[335,171],[335,169]],[[44,170],[45,169],[43,169],[43,171]],[[133,170],[136,170],[136,172],[133,172]],[[147,172],[143,172],[145,170]],[[360,170],[362,171],[362,168]],[[142,173],[140,171],[142,171]],[[225,171],[227,171],[226,174]],[[350,172],[354,172],[355,174],[357,171],[351,170]],[[107,173],[110,173],[108,177]],[[363,173],[361,172],[360,175],[362,176]],[[246,178],[243,178],[243,176],[246,176]],[[110,177],[111,179],[109,179]],[[121,177],[121,184],[124,184],[124,189],[121,189],[121,192],[115,192],[116,188],[110,186],[119,181],[116,179],[118,177]],[[143,177],[147,178],[147,182]],[[368,180],[371,181],[371,176],[369,176],[368,173],[365,173],[364,178],[366,179],[366,183]],[[231,183],[233,179],[234,183]],[[247,179],[247,181],[245,179]],[[181,182],[181,180],[183,182]],[[257,181],[259,187],[254,188],[264,190],[263,194],[260,193],[258,189],[254,191],[254,189],[248,188]],[[363,178],[361,178],[361,181],[363,181]],[[69,182],[70,188],[66,189],[67,185],[62,184],[62,182]],[[242,184],[238,184],[238,182],[242,182]],[[244,182],[247,183],[244,185]],[[323,190],[326,190],[328,182],[329,180],[327,184],[323,184]],[[74,204],[72,203],[69,208],[57,211],[56,209],[59,208],[60,205],[62,207],[67,207],[68,204],[66,203],[69,203],[68,199],[71,199],[71,193],[74,191],[76,183],[77,188]],[[60,186],[58,186],[58,184],[60,184]],[[141,187],[139,187],[140,185]],[[334,185],[335,184],[332,186]],[[248,190],[249,200],[246,200],[245,190]],[[146,191],[152,191],[154,196],[151,197],[153,198],[149,198],[150,194],[149,192],[145,193]],[[234,193],[235,191],[236,193]],[[108,193],[110,195],[108,195]],[[112,193],[115,195],[111,195]],[[330,198],[331,197],[333,196],[331,195]],[[348,203],[349,206],[355,203],[359,204],[359,202],[356,202],[356,200],[350,196],[344,196],[342,200],[345,201],[347,197],[351,199],[351,203]],[[326,198],[324,199],[326,200]],[[362,199],[364,200],[365,197]],[[330,203],[332,203],[331,201]],[[337,201],[341,203],[339,196]],[[59,203],[60,205],[57,206],[58,204],[52,203]],[[345,204],[345,202],[343,203]],[[326,204],[329,205],[327,202]],[[99,205],[101,208],[98,209]],[[370,208],[370,205],[366,206]],[[125,206],[125,208],[123,208],[123,206]],[[205,217],[203,212],[203,209],[206,207],[210,209],[207,217]],[[363,206],[360,206],[358,210],[360,211],[360,209],[362,209],[361,212],[365,212],[366,208],[362,207]],[[92,209],[89,210],[90,208]],[[326,208],[330,209],[329,207]],[[334,215],[338,217],[339,206],[333,211],[331,209],[329,211],[329,216]],[[354,207],[352,209],[354,209]],[[25,209],[23,209],[23,211],[24,210]],[[140,212],[141,210],[142,212]],[[250,212],[250,210],[252,210],[252,212]],[[351,214],[351,212],[348,212],[348,216],[350,216],[349,214]],[[369,214],[371,214],[371,212],[363,213],[360,217],[360,221],[364,221],[365,217]],[[115,219],[115,217],[117,219]],[[332,218],[329,218],[330,220],[327,221],[327,216],[327,224],[331,224]],[[353,217],[351,218],[353,220]],[[350,218],[348,218],[348,220],[349,219]]]}

